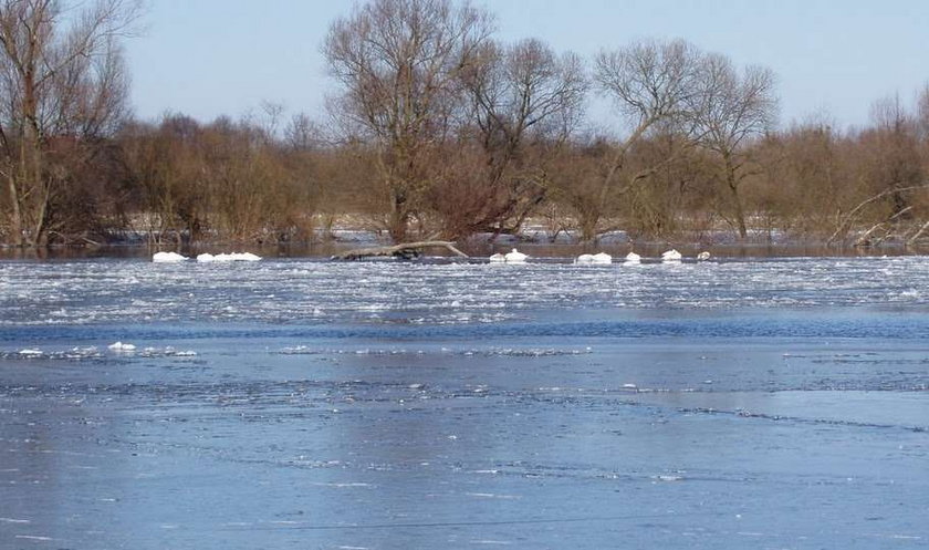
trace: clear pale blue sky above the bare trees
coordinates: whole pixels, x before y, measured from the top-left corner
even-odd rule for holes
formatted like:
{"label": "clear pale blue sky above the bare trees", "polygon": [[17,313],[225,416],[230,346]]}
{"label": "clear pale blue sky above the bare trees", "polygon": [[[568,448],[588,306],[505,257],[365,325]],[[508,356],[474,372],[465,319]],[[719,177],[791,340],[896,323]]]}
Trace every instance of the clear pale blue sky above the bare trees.
{"label": "clear pale blue sky above the bare trees", "polygon": [[[866,124],[874,101],[910,104],[929,82],[929,0],[488,0],[504,40],[536,37],[591,56],[634,39],[686,39],[777,74],[781,120],[821,112]],[[322,113],[320,53],[351,0],[150,0],[127,43],[133,104],[208,121],[262,101]]]}

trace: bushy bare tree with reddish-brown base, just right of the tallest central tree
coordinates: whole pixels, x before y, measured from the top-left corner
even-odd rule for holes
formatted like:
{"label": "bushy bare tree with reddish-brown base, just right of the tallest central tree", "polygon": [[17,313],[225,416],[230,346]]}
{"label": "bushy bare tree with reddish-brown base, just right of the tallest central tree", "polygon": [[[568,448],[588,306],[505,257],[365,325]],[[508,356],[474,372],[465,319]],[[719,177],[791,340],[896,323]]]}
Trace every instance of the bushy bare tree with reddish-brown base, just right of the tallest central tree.
{"label": "bushy bare tree with reddish-brown base, just right of the tallest central tree", "polygon": [[449,237],[514,232],[547,190],[540,152],[563,143],[580,118],[581,60],[535,39],[488,42],[461,81],[470,105],[432,209]]}

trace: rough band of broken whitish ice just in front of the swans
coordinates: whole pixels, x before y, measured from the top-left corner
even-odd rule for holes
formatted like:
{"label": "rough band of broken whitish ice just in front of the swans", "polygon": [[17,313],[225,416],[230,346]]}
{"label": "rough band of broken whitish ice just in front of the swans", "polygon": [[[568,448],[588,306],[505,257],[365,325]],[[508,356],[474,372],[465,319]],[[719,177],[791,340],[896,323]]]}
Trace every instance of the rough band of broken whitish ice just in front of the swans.
{"label": "rough band of broken whitish ice just in front of the swans", "polygon": [[529,263],[0,262],[0,325],[122,322],[409,323],[534,310],[929,308],[923,257],[770,259],[589,269]]}

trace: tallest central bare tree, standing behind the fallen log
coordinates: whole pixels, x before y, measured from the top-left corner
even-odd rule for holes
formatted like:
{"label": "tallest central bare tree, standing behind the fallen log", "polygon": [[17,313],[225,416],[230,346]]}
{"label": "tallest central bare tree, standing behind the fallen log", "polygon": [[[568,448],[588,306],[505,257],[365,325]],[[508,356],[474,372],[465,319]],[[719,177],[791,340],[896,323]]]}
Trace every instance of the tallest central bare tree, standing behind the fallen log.
{"label": "tallest central bare tree, standing behind the fallen log", "polygon": [[323,52],[343,91],[337,115],[377,147],[396,241],[430,185],[435,147],[460,105],[459,73],[492,28],[488,12],[451,0],[372,0],[330,27]]}

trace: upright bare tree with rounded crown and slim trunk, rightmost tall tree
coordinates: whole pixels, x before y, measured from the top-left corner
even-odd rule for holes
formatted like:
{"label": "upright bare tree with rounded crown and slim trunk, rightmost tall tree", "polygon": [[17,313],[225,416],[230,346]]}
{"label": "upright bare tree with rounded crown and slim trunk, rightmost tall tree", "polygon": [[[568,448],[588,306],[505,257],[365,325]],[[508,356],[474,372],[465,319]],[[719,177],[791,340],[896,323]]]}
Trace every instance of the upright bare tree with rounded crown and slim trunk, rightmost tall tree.
{"label": "upright bare tree with rounded crown and slim trunk, rightmost tall tree", "polygon": [[744,145],[771,129],[777,113],[774,73],[749,66],[741,74],[720,54],[708,54],[700,66],[699,93],[692,96],[692,115],[701,143],[722,160],[722,180],[739,237],[748,237],[739,187],[744,179]]}

